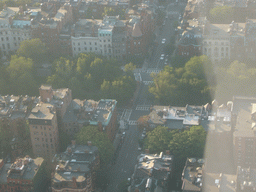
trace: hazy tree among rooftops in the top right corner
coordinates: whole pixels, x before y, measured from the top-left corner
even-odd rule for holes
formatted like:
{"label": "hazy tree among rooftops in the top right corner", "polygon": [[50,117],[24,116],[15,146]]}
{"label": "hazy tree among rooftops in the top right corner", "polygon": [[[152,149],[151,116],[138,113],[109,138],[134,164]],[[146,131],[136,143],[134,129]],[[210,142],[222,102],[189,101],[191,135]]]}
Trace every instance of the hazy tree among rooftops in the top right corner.
{"label": "hazy tree among rooftops in the top right corner", "polygon": [[229,6],[217,6],[210,10],[209,20],[212,23],[231,23],[234,16],[234,9]]}

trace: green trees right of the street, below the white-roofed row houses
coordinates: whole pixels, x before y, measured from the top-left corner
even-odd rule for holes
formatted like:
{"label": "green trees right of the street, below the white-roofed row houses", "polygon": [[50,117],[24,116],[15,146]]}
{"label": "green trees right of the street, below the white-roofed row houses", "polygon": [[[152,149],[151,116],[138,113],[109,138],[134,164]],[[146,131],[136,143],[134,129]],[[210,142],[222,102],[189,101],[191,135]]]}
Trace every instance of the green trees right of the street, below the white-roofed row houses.
{"label": "green trees right of the street, below the white-roofed row houses", "polygon": [[175,159],[185,160],[187,157],[203,157],[205,142],[206,131],[202,126],[192,126],[182,132],[158,126],[147,133],[145,148],[150,153],[170,150]]}

